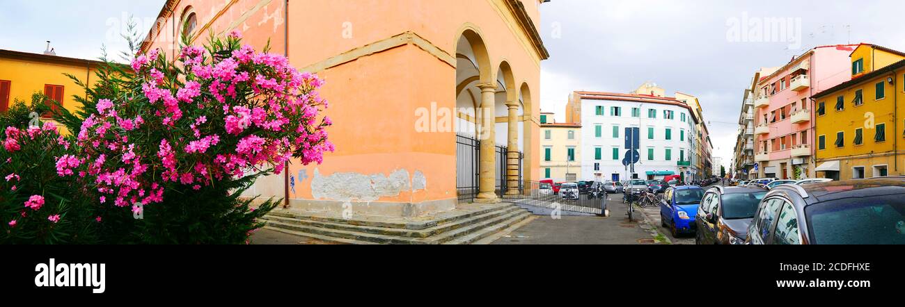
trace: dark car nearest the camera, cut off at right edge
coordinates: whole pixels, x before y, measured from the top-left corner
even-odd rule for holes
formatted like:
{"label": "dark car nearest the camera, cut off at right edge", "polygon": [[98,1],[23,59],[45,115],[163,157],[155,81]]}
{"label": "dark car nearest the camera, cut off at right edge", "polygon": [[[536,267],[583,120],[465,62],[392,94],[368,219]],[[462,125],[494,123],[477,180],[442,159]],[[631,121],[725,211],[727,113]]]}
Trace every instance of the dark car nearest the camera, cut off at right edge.
{"label": "dark car nearest the camera, cut off at right edge", "polygon": [[749,244],[905,244],[905,177],[774,187],[757,206]]}

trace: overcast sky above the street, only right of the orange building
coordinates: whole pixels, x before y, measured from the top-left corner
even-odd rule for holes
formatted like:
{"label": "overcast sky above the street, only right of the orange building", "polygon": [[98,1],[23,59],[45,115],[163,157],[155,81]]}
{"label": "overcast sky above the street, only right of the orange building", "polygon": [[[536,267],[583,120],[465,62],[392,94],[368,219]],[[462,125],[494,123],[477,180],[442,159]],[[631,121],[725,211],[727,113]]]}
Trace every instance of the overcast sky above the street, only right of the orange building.
{"label": "overcast sky above the street, only right of the orange building", "polygon": [[[541,64],[541,108],[562,121],[573,90],[625,93],[651,80],[667,95],[678,90],[700,98],[714,156],[729,168],[742,95],[755,70],[783,66],[820,45],[871,42],[905,51],[903,9],[901,0],[554,0],[541,5],[540,32],[550,51]],[[793,33],[801,24],[801,35],[786,37],[800,36],[801,43],[778,35],[730,40],[745,15],[751,24],[793,18],[786,24]]]}

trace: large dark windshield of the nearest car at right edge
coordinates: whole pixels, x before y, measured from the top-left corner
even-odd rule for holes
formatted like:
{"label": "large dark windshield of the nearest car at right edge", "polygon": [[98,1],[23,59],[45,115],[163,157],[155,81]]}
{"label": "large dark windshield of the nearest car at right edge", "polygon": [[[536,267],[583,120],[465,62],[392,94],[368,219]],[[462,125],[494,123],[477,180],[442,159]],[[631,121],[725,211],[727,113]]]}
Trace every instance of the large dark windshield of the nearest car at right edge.
{"label": "large dark windshield of the nearest car at right edge", "polygon": [[828,201],[805,210],[816,244],[905,244],[901,194]]}

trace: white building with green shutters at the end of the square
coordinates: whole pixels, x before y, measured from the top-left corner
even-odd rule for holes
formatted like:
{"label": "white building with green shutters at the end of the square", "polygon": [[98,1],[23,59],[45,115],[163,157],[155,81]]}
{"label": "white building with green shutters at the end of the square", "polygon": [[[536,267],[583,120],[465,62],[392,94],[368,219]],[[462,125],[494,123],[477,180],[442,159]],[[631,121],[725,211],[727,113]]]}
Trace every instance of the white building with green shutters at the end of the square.
{"label": "white building with green shutters at the end of the square", "polygon": [[[582,125],[583,180],[649,180],[680,174],[691,180],[691,142],[698,118],[683,102],[648,95],[574,92],[568,110]],[[638,127],[640,132],[640,159],[634,173],[623,164],[628,127]]]}

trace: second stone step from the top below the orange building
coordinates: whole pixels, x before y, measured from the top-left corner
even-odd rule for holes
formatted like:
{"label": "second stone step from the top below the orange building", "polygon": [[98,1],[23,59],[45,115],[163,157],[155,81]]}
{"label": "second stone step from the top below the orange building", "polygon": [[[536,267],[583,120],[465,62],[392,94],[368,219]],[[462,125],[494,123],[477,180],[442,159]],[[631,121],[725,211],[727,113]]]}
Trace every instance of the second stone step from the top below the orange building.
{"label": "second stone step from the top below the orange building", "polygon": [[494,210],[504,209],[509,206],[493,204],[493,205],[482,205],[482,206],[472,206],[473,208],[469,208],[467,212],[461,213],[457,212],[456,214],[451,213],[440,213],[433,219],[425,219],[425,220],[411,220],[411,219],[343,219],[341,217],[330,217],[323,215],[313,215],[306,214],[300,211],[292,211],[292,210],[284,210],[284,209],[273,209],[269,212],[268,216],[273,217],[281,217],[281,218],[289,218],[289,219],[307,219],[314,221],[323,221],[323,222],[332,222],[332,223],[340,223],[347,225],[357,225],[357,226],[367,226],[367,227],[376,227],[376,228],[401,228],[401,229],[426,229],[433,228],[438,225],[442,225],[445,223],[452,223],[459,219],[468,219],[474,216],[478,216],[481,214],[485,214]]}

